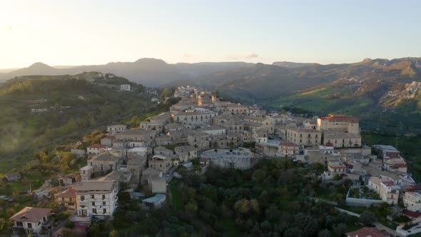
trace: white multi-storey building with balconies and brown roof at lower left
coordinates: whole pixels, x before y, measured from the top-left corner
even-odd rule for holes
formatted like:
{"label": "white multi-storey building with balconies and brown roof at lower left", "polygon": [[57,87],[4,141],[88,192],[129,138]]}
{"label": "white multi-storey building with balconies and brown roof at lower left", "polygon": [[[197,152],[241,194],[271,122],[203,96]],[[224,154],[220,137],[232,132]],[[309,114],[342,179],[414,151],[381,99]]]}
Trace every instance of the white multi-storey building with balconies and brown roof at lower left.
{"label": "white multi-storey building with balconies and brown roof at lower left", "polygon": [[75,192],[78,216],[112,216],[116,210],[118,181],[81,181]]}

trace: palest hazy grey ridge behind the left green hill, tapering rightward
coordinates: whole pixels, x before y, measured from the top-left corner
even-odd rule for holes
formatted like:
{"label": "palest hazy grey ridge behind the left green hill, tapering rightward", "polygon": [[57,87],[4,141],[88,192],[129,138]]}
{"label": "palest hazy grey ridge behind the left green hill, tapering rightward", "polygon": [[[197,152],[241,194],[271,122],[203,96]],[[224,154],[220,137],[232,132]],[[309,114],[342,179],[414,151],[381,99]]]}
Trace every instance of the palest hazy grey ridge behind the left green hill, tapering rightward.
{"label": "palest hazy grey ridge behind the left green hill, tapering rightward", "polygon": [[244,62],[220,62],[220,63],[197,63],[197,64],[167,64],[161,59],[138,59],[134,62],[111,62],[103,65],[85,65],[85,66],[52,66],[35,63],[23,69],[7,71],[0,73],[0,81],[12,79],[16,76],[30,75],[74,75],[81,74],[84,71],[101,71],[103,73],[116,74],[123,76],[130,81],[144,84],[146,86],[160,86],[171,84],[173,81],[188,81],[213,73],[215,71],[224,71],[240,67],[253,66]]}

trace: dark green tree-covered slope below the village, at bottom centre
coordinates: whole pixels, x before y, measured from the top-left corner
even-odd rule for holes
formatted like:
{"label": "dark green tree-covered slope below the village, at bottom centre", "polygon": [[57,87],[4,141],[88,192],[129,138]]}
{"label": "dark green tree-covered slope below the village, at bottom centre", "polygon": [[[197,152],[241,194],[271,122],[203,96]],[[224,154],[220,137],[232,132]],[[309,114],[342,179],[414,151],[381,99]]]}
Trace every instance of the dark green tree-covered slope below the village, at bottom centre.
{"label": "dark green tree-covered slope below the village, at bottom centre", "polygon": [[[181,171],[182,180],[171,183],[171,201],[166,208],[146,214],[121,196],[115,221],[102,233],[343,236],[358,219],[313,201],[323,188],[308,177],[319,168],[298,166],[281,158],[260,161],[247,171],[213,166],[203,176]],[[370,214],[364,221],[372,221]]]}

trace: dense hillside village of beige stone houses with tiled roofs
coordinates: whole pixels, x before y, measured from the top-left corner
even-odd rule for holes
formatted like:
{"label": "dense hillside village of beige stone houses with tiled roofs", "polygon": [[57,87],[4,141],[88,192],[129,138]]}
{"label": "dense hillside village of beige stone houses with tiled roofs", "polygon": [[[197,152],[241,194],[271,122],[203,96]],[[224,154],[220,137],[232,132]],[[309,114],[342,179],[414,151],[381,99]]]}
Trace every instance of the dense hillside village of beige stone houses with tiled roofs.
{"label": "dense hillside village of beige stone houses with tiled roofs", "polygon": [[[130,85],[121,90],[130,90]],[[128,193],[147,211],[170,203],[168,183],[181,178],[183,170],[198,174],[209,166],[247,170],[263,158],[287,157],[303,166],[320,163],[323,172],[313,178],[324,183],[352,181],[347,206],[383,202],[401,206],[412,232],[404,224],[394,231],[402,236],[421,232],[417,226],[421,186],[407,173],[407,161],[393,146],[362,144],[356,117],[268,113],[258,105],[224,101],[192,86],[178,87],[173,97],[178,103],[169,111],[141,121],[138,127],[110,125],[100,143],[72,148],[76,156],[88,157],[86,166],[78,174],[62,177],[59,188],[38,190],[35,196],[53,197],[71,213],[76,227],[86,228],[96,219],[113,218],[118,193]],[[8,173],[6,178],[13,182],[21,174]],[[14,233],[48,233],[52,211],[26,207],[15,213],[10,218]],[[62,228],[51,232],[57,236]]]}

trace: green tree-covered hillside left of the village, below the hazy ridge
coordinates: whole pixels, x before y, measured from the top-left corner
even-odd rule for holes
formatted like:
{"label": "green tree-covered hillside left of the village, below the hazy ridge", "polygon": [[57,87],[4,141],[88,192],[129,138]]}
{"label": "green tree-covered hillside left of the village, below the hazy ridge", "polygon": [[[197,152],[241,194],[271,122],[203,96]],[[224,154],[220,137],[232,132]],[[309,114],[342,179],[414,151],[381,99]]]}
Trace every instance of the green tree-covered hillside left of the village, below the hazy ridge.
{"label": "green tree-covered hillside left of the village, below the hazy ridge", "polygon": [[[25,76],[0,85],[0,173],[33,159],[37,149],[158,110],[138,96],[143,86],[97,75]],[[119,91],[119,84],[131,84],[132,90]]]}

